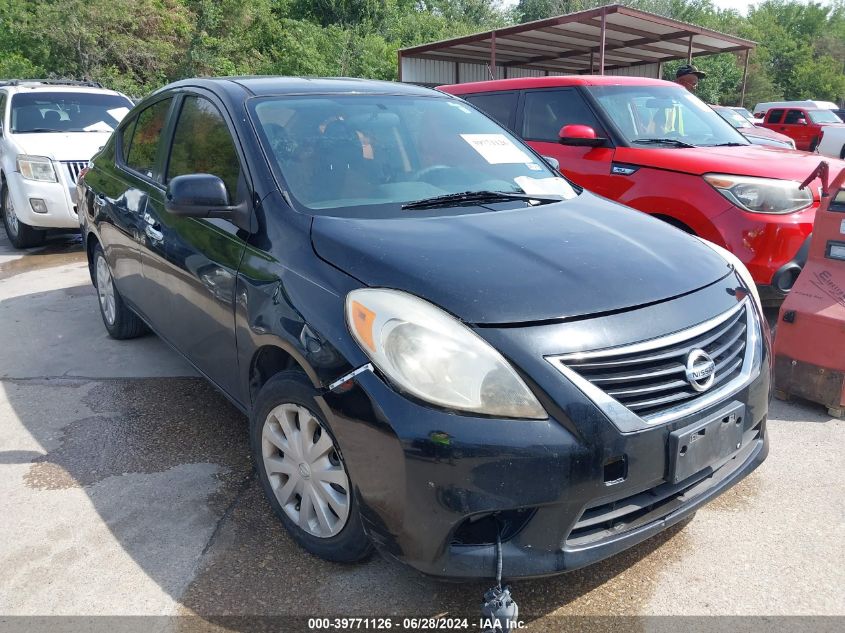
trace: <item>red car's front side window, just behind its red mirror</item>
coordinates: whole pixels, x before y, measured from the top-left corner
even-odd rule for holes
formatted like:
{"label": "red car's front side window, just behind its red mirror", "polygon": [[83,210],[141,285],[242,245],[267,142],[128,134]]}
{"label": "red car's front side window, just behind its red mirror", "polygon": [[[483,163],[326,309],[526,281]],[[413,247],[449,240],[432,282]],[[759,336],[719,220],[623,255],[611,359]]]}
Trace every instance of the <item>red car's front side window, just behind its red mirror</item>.
{"label": "red car's front side window, just behind its red mirror", "polygon": [[598,119],[575,88],[525,93],[522,136],[532,141],[558,142],[564,125],[588,125],[606,136]]}

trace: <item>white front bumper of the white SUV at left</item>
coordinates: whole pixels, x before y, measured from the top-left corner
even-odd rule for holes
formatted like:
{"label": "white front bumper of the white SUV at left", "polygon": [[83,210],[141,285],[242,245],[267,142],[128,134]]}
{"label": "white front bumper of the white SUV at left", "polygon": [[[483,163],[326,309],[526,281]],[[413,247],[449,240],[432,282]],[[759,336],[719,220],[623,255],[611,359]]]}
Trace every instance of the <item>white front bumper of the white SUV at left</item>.
{"label": "white front bumper of the white SUV at left", "polygon": [[[15,205],[15,215],[24,224],[36,228],[78,229],[76,185],[70,180],[70,175],[66,175],[68,170],[63,163],[53,161],[53,168],[58,173],[59,182],[26,180],[18,172],[8,174],[9,195]],[[47,212],[36,213],[31,199],[43,200]]]}

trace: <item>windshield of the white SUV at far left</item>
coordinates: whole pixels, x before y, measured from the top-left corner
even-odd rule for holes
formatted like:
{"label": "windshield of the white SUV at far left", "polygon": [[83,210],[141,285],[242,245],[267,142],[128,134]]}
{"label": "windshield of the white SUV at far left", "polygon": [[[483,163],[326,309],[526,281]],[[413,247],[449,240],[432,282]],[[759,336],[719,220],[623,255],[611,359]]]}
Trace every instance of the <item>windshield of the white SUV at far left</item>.
{"label": "windshield of the white SUV at far left", "polygon": [[12,97],[11,131],[111,132],[132,102],[115,94],[22,92]]}

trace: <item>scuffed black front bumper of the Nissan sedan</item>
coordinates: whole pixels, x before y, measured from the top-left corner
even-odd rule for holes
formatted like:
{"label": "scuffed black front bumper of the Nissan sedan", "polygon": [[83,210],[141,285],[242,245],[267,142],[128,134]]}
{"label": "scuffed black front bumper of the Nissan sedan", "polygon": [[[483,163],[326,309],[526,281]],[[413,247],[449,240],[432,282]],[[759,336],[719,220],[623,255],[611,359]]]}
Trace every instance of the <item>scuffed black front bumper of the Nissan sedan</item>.
{"label": "scuffed black front bumper of the Nissan sedan", "polygon": [[[704,294],[679,300],[676,310],[717,300],[715,292]],[[662,308],[665,325],[673,310]],[[653,319],[643,317],[647,328]],[[321,403],[343,448],[365,528],[380,551],[440,578],[493,577],[495,530],[501,529],[505,577],[546,576],[657,534],[763,461],[770,393],[767,343],[763,347],[759,373],[740,391],[694,415],[630,433],[550,365],[548,374],[530,372],[550,413],[545,421],[435,410],[372,372],[357,376],[346,391],[325,394]],[[728,404],[745,407],[741,446],[685,481],[670,483],[670,433]],[[609,477],[608,464],[619,456],[625,457],[624,476]],[[604,517],[593,526],[605,529],[580,528],[585,516]]]}

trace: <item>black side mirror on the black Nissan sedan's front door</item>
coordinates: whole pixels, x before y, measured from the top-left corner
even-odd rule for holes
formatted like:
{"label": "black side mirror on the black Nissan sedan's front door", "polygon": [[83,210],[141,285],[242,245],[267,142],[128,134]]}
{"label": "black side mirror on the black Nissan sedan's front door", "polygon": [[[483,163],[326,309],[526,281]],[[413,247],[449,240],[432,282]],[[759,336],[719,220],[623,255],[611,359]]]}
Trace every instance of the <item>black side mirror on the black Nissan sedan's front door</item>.
{"label": "black side mirror on the black Nissan sedan's front door", "polygon": [[232,206],[223,181],[212,174],[176,176],[167,185],[164,208],[173,215],[191,218],[222,218],[238,228],[257,230],[247,203]]}

